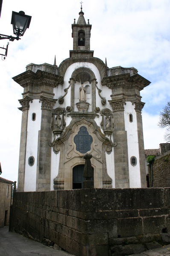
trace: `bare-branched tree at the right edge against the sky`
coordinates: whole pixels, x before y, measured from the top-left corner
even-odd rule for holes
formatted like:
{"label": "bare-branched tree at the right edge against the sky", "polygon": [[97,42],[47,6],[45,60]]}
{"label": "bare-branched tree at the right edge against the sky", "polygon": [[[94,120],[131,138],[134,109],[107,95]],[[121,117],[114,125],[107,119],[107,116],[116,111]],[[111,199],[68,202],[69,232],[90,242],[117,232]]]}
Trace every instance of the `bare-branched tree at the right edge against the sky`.
{"label": "bare-branched tree at the right edge against the sky", "polygon": [[170,101],[160,112],[158,127],[167,128],[164,138],[167,142],[170,142]]}

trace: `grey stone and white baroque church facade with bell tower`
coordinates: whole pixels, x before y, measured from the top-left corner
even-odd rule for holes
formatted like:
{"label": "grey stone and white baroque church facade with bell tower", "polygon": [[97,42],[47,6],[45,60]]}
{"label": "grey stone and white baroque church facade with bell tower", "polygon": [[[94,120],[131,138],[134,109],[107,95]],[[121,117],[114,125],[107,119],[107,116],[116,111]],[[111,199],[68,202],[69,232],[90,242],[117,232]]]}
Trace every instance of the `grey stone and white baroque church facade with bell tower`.
{"label": "grey stone and white baroque church facade with bell tower", "polygon": [[85,153],[94,188],[147,186],[140,91],[150,82],[135,68],[108,68],[90,35],[81,8],[70,57],[13,77],[24,89],[18,191],[83,188]]}

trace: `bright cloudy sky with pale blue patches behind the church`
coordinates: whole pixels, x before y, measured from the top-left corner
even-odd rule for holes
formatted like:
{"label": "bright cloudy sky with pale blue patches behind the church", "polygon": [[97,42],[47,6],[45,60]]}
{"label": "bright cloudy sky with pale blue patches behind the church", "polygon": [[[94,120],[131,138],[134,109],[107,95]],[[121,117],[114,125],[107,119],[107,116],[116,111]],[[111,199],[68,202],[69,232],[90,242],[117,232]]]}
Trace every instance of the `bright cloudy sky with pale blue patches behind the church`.
{"label": "bright cloudy sky with pale blue patches behind the church", "polygon": [[[8,56],[0,58],[0,177],[18,180],[23,88],[12,77],[30,63],[53,65],[56,55],[59,66],[69,58],[71,24],[80,7],[78,0],[3,0],[1,34],[13,35],[12,11],[24,11],[32,20],[21,40],[0,40],[0,47],[9,42]],[[170,101],[170,0],[83,0],[82,10],[92,24],[94,57],[107,58],[109,68],[134,67],[151,82],[141,91],[144,148],[158,148],[166,143],[159,114]]]}

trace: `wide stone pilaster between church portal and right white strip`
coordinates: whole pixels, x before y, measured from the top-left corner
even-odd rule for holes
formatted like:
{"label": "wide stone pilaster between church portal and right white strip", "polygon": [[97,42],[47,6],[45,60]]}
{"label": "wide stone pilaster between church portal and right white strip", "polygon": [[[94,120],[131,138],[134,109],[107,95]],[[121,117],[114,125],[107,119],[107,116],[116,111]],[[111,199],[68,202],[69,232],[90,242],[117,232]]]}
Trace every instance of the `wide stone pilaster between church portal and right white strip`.
{"label": "wide stone pilaster between church portal and right white strip", "polygon": [[114,113],[114,168],[115,168],[115,187],[129,188],[129,165],[128,165],[128,146],[127,133],[125,131],[124,104],[125,100],[109,100]]}

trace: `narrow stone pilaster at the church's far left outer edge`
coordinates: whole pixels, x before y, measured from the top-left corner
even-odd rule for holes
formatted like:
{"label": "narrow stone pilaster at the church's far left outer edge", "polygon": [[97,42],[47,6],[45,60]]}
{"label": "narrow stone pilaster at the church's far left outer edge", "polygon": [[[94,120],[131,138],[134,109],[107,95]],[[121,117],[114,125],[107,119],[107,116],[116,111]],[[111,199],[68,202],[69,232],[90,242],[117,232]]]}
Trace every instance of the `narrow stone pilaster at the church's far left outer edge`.
{"label": "narrow stone pilaster at the church's far left outer edge", "polygon": [[20,140],[20,155],[19,155],[19,168],[18,168],[18,192],[24,191],[29,101],[32,102],[32,100],[29,97],[25,97],[22,100],[19,100],[19,103],[22,105],[22,107],[19,109],[23,113],[22,113],[22,123],[21,123],[21,140]]}

